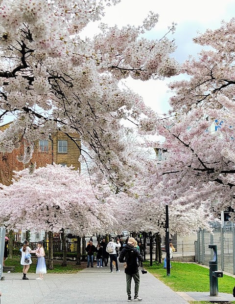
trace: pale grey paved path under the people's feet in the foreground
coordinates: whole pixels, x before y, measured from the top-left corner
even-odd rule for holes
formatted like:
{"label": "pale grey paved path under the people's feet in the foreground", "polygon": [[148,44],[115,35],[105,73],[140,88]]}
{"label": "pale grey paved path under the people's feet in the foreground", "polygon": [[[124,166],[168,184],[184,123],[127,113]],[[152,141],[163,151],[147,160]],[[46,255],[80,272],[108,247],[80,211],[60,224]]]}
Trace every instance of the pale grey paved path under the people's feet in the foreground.
{"label": "pale grey paved path under the people's feet in the foreground", "polygon": [[[127,303],[123,264],[120,272],[109,267],[86,268],[77,274],[46,274],[43,281],[36,274],[4,273],[0,281],[1,304],[120,304]],[[141,276],[139,296],[146,304],[187,304],[180,295],[150,273]],[[132,282],[134,296],[134,282]],[[138,302],[137,302],[138,303]]]}

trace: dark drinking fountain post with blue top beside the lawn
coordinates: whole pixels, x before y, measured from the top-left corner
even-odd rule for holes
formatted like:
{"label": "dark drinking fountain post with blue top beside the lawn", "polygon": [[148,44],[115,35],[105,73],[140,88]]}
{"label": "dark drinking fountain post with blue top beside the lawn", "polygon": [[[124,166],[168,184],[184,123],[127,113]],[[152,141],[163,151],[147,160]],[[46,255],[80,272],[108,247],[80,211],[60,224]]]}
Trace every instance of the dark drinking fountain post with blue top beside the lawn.
{"label": "dark drinking fountain post with blue top beside the lawn", "polygon": [[223,277],[223,271],[218,271],[217,264],[217,245],[209,245],[209,248],[213,249],[213,260],[209,261],[210,266],[210,296],[217,297],[219,295],[218,290],[218,278]]}

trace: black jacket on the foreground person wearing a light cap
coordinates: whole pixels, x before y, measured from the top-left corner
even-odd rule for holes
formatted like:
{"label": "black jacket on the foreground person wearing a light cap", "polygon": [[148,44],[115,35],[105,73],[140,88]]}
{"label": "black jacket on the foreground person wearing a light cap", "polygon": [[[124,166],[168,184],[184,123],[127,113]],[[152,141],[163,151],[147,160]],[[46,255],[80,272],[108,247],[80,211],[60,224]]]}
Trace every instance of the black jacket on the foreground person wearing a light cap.
{"label": "black jacket on the foreground person wearing a light cap", "polygon": [[125,273],[134,274],[139,272],[137,259],[138,261],[143,261],[143,257],[141,256],[138,249],[133,246],[126,245],[125,247],[123,247],[118,260],[120,263],[127,263]]}

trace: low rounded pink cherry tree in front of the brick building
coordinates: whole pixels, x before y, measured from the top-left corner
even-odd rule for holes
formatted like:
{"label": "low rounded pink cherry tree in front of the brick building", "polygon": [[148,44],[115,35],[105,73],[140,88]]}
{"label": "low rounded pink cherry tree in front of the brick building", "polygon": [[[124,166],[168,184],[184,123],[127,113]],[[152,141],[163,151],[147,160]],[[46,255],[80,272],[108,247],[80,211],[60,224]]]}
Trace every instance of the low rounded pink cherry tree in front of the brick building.
{"label": "low rounded pink cherry tree in front of the brick building", "polygon": [[47,165],[32,174],[25,169],[15,172],[10,186],[0,185],[0,225],[57,233],[64,228],[78,236],[107,233],[115,219],[101,195],[71,168]]}

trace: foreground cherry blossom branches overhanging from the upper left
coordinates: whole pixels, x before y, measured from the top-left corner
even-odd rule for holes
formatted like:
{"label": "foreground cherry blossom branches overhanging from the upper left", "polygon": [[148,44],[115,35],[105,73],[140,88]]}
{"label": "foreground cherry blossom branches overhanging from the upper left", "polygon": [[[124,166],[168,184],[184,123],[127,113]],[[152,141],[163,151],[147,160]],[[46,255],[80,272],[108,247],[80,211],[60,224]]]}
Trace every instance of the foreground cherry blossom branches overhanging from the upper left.
{"label": "foreground cherry blossom branches overhanging from the upper left", "polygon": [[[86,25],[104,15],[105,5],[118,2],[0,1],[0,119],[16,116],[0,132],[1,151],[19,147],[22,136],[30,142],[47,139],[56,130],[68,136],[76,132],[89,149],[83,157],[92,157],[100,178],[119,184],[128,179],[120,120],[135,120],[145,128],[141,114],[148,110],[140,96],[118,83],[127,77],[170,77],[178,65],[170,57],[173,41],[165,35],[151,41],[141,36],[158,21],[153,12],[140,26],[118,29],[101,23],[100,34],[81,39]],[[169,32],[174,29],[173,24]],[[24,162],[31,150],[26,147]]]}

